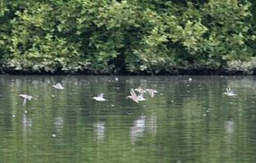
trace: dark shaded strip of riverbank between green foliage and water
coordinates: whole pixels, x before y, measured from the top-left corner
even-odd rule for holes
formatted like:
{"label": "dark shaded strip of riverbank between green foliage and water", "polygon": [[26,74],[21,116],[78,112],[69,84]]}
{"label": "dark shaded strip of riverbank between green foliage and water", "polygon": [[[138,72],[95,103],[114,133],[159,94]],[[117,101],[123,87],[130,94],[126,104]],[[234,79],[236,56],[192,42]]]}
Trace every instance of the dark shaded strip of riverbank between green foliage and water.
{"label": "dark shaded strip of riverbank between green foliage and water", "polygon": [[46,71],[32,71],[32,70],[16,70],[16,69],[7,69],[0,68],[0,74],[11,74],[11,75],[255,75],[256,67],[248,66],[232,66],[228,68],[171,68],[168,71],[159,71],[159,72],[97,72],[97,71],[63,71],[56,70],[54,72],[46,72]]}

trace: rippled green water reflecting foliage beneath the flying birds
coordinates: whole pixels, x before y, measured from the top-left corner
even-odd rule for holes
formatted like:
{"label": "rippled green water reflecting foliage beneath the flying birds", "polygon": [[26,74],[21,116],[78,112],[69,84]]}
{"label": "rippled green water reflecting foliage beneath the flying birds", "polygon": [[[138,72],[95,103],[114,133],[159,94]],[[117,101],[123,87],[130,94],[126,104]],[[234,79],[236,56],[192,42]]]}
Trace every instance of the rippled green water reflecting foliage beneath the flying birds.
{"label": "rippled green water reflecting foliage beneath the flying birds", "polygon": [[255,162],[256,77],[188,78],[0,76],[0,162]]}

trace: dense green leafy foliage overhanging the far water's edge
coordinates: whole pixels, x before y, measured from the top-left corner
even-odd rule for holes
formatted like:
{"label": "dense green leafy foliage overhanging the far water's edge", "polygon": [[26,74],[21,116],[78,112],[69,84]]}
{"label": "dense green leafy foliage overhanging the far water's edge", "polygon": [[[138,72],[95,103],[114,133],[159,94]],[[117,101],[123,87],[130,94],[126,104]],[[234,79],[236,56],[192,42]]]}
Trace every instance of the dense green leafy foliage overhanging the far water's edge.
{"label": "dense green leafy foliage overhanging the far water's edge", "polygon": [[255,6],[245,0],[3,0],[0,64],[51,73],[225,69],[255,56]]}

